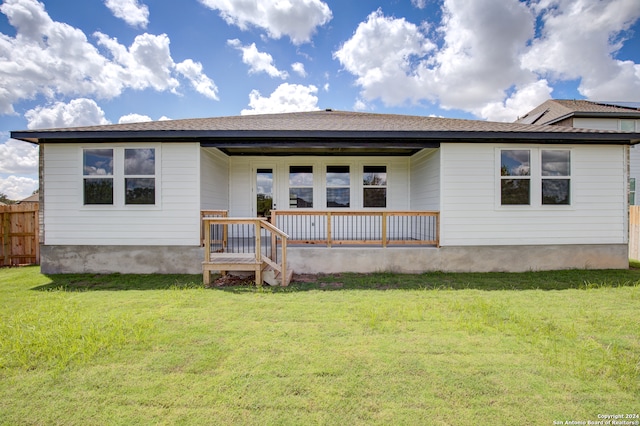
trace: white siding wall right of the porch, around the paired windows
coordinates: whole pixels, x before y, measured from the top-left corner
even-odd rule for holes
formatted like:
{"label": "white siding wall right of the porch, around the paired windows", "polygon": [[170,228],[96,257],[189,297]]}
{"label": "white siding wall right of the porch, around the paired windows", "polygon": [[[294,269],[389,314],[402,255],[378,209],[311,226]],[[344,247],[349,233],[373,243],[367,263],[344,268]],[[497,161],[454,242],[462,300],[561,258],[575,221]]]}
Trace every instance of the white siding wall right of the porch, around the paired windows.
{"label": "white siding wall right of the porch, around the paired windows", "polygon": [[501,206],[499,148],[516,147],[442,144],[443,246],[626,242],[625,147],[517,147],[571,149],[570,206]]}

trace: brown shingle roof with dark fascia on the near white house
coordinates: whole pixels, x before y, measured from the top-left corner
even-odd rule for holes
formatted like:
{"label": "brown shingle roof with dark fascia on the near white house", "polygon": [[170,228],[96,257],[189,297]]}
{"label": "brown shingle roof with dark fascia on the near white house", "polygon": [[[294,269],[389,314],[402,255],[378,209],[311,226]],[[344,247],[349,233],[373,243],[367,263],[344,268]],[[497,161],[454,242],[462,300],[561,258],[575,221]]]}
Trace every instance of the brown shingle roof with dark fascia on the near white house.
{"label": "brown shingle roof with dark fascia on the near white house", "polygon": [[329,148],[341,153],[365,148],[415,152],[446,141],[640,142],[640,134],[635,133],[333,110],[24,130],[11,132],[11,137],[32,143],[200,142],[243,154],[287,149],[291,153],[296,148],[325,153]]}

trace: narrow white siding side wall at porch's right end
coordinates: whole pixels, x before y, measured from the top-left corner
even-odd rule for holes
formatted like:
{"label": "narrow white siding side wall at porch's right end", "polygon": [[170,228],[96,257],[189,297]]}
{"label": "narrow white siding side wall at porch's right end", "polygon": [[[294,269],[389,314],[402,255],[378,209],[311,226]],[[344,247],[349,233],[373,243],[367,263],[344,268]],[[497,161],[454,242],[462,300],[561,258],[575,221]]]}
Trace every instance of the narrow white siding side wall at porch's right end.
{"label": "narrow white siding side wall at porch's right end", "polygon": [[411,210],[440,210],[440,150],[411,157]]}

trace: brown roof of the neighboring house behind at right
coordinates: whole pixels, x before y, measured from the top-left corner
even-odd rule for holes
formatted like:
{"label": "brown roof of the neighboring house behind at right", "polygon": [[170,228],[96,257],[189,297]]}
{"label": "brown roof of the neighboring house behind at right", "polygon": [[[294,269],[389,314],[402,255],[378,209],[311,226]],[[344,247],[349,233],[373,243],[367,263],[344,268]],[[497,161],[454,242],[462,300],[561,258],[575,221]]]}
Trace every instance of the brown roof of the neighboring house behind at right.
{"label": "brown roof of the neighboring house behind at right", "polygon": [[591,102],[549,99],[515,122],[520,124],[554,124],[569,117],[640,118],[636,102]]}

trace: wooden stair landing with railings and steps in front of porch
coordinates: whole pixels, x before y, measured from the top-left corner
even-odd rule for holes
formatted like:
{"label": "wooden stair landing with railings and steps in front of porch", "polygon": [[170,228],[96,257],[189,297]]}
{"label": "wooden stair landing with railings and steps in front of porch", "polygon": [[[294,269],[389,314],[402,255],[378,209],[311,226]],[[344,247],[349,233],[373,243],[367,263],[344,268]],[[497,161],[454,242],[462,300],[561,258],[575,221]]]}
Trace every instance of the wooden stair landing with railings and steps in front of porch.
{"label": "wooden stair landing with railings and steps in front of porch", "polygon": [[[254,271],[256,284],[263,283],[263,270],[271,268],[274,279],[287,286],[291,271],[287,269],[288,235],[264,218],[208,217],[204,224],[204,283],[211,271]],[[278,258],[278,246],[281,254]]]}

